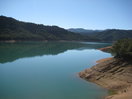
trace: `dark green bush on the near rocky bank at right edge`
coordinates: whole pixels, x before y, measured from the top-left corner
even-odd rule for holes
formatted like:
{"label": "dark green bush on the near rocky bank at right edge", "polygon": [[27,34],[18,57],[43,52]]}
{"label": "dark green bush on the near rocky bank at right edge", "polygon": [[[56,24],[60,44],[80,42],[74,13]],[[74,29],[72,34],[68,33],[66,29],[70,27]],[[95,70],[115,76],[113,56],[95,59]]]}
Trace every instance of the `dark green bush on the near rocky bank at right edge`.
{"label": "dark green bush on the near rocky bank at right edge", "polygon": [[122,39],[115,42],[112,46],[112,53],[116,58],[131,59],[132,58],[132,39]]}

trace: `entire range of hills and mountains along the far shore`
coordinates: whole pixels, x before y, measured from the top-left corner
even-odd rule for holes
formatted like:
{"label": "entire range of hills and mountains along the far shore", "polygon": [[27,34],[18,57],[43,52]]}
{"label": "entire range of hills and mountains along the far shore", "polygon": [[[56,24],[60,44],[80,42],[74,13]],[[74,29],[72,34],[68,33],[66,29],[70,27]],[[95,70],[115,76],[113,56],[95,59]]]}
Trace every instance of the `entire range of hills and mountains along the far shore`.
{"label": "entire range of hills and mountains along the far shore", "polygon": [[0,16],[0,41],[104,41],[112,42],[122,38],[132,38],[132,30],[86,30],[82,28],[64,29],[18,21]]}

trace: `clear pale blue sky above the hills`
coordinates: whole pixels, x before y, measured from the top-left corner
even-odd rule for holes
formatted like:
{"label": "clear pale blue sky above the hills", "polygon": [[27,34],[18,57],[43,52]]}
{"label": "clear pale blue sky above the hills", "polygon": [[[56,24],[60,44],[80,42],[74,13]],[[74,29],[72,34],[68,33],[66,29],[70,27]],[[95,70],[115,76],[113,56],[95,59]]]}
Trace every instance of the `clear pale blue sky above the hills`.
{"label": "clear pale blue sky above the hills", "polygon": [[132,29],[132,0],[0,0],[0,15],[63,28]]}

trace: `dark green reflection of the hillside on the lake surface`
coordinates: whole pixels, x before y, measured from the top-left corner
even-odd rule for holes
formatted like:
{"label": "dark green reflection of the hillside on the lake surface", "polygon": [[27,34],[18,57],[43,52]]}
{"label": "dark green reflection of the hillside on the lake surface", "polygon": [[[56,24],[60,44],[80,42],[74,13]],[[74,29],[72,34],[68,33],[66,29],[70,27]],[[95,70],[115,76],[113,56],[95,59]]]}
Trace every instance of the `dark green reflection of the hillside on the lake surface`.
{"label": "dark green reflection of the hillside on the lake surface", "polygon": [[57,55],[72,49],[97,49],[107,45],[109,44],[79,42],[0,43],[0,63],[12,62],[24,57]]}

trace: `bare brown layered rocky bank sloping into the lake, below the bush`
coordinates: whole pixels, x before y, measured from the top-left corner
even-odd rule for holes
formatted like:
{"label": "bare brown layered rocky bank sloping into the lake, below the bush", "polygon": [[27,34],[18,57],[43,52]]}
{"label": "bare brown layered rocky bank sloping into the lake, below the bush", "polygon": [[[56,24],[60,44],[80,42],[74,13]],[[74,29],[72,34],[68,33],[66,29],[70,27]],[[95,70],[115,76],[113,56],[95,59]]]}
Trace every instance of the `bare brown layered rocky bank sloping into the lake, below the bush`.
{"label": "bare brown layered rocky bank sloping into the lake, below the bush", "polygon": [[132,99],[132,63],[115,58],[97,61],[92,68],[79,73],[85,80],[112,92],[105,99]]}

